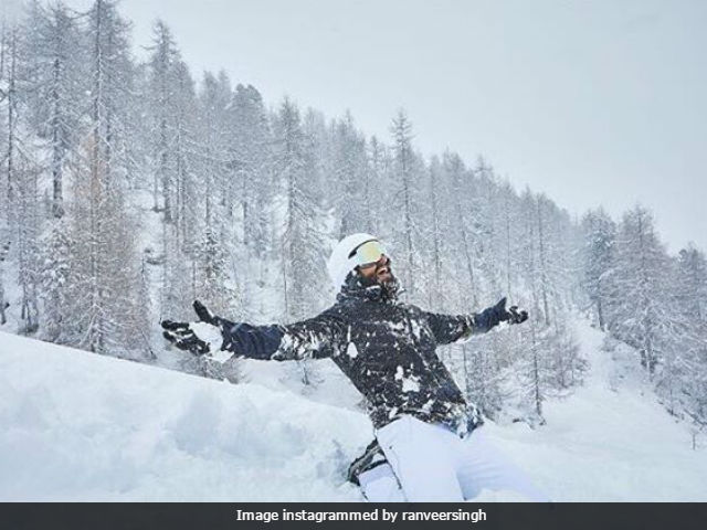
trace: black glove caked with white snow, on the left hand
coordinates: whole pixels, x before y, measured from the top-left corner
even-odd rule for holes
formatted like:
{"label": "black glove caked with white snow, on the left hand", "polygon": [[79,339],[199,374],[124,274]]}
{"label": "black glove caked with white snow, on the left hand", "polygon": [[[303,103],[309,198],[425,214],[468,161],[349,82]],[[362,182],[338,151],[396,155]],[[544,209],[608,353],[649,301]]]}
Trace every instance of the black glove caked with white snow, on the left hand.
{"label": "black glove caked with white snow, on the left hand", "polygon": [[180,350],[190,351],[196,356],[212,353],[214,349],[223,350],[223,340],[220,347],[214,347],[214,339],[222,337],[223,319],[213,315],[203,304],[194,300],[194,311],[199,317],[196,322],[172,322],[162,320],[160,324],[165,331],[162,336]]}

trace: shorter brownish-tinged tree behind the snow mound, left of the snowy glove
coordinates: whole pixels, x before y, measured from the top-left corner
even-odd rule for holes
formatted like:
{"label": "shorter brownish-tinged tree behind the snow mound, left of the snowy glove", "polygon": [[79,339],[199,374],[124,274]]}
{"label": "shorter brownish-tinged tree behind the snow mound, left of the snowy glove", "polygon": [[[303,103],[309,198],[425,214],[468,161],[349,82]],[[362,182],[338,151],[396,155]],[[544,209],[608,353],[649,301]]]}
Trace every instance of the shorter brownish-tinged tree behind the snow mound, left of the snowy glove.
{"label": "shorter brownish-tinged tree behind the snow mound, left of the snowy glove", "polygon": [[89,351],[145,358],[148,300],[140,293],[135,224],[124,190],[86,140],[76,165],[68,209],[71,300],[67,342]]}

